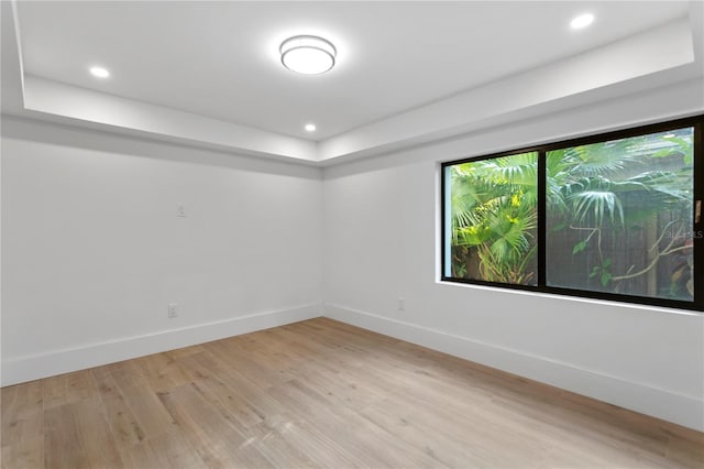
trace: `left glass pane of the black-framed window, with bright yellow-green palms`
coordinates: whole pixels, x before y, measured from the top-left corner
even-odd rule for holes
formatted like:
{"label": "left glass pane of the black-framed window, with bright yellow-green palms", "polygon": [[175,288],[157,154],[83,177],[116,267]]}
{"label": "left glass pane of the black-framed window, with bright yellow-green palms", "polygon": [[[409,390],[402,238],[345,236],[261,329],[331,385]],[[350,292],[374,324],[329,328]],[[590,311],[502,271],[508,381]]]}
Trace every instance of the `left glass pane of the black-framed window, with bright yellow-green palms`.
{"label": "left glass pane of the black-framed window, with bright yellow-green palms", "polygon": [[537,285],[538,153],[446,168],[450,276]]}

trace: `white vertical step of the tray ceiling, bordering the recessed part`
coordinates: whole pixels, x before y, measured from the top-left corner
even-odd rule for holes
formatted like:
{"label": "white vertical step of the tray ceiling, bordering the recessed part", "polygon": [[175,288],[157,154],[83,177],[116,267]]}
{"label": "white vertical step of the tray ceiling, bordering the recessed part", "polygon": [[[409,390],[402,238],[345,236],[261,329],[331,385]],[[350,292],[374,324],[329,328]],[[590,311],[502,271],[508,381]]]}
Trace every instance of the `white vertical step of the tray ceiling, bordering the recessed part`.
{"label": "white vertical step of the tray ceiling, bordering the recessed part", "polygon": [[[13,54],[15,57],[7,53],[12,51],[6,51],[6,34],[15,33],[13,28],[11,32],[4,28],[10,10],[8,4],[3,2],[2,6],[6,30],[3,112],[24,113],[40,119],[51,117],[47,120],[65,119],[78,126],[102,126],[121,133],[187,141],[211,149],[290,159],[292,162],[306,164],[328,165],[354,155],[370,156],[450,138],[486,126],[486,122],[501,124],[525,114],[530,116],[531,112],[551,112],[590,99],[604,99],[614,89],[637,92],[661,86],[662,77],[683,80],[702,76],[702,67],[697,66],[695,59],[701,55],[701,47],[695,51],[693,41],[693,35],[695,40],[697,34],[701,36],[701,31],[693,31],[692,24],[695,22],[691,24],[690,19],[682,19],[324,141],[312,142],[44,78],[22,76],[19,42],[10,44],[10,47],[14,45],[18,48],[18,53]],[[701,15],[701,11],[698,13]],[[16,34],[13,35],[16,39]],[[4,79],[9,74],[8,67],[14,68],[9,72],[19,74],[19,84],[16,77]],[[6,89],[9,88],[8,83],[14,88],[19,86],[20,90]],[[629,91],[617,87],[618,84],[634,87]],[[13,94],[19,94],[23,102],[10,99],[7,102],[15,102],[6,106],[6,98]],[[22,109],[18,109],[20,105]]]}

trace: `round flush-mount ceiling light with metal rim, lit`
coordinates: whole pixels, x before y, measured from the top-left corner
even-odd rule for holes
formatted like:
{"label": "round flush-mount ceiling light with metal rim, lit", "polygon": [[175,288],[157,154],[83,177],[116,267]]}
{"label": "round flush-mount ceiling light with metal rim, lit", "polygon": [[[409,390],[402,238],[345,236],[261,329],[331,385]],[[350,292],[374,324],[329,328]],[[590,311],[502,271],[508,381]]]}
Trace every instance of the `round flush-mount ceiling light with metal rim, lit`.
{"label": "round flush-mount ceiling light with metal rim, lit", "polygon": [[287,39],[278,51],[286,68],[305,75],[328,72],[334,66],[334,57],[338,55],[330,41],[307,35]]}

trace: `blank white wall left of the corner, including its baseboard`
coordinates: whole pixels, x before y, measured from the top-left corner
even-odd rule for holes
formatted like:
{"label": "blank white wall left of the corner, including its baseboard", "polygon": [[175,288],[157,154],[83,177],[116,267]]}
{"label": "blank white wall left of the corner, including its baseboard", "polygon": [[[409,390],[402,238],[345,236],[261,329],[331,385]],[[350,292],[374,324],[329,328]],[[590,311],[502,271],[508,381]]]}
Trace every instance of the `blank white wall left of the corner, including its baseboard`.
{"label": "blank white wall left of the corner, including its baseboard", "polygon": [[321,170],[4,116],[1,151],[3,385],[320,315]]}

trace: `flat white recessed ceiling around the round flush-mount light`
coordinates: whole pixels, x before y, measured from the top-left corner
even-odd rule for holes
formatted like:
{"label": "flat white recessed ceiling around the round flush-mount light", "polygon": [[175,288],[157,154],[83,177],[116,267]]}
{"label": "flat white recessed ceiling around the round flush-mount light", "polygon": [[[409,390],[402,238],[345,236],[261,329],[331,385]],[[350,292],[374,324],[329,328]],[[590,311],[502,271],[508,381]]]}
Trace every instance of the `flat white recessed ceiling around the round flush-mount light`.
{"label": "flat white recessed ceiling around the round flush-mount light", "polygon": [[[68,89],[58,84],[70,85],[74,91],[90,89],[134,106],[226,121],[238,131],[263,131],[264,138],[324,145],[359,135],[360,129],[378,131],[400,116],[466,98],[498,80],[646,37],[678,20],[689,26],[693,3],[32,1],[14,3],[14,28],[25,87],[41,78],[37,83],[56,84],[53,92]],[[596,21],[571,30],[570,20],[582,12],[594,13]],[[688,33],[691,42],[701,31]],[[337,66],[320,76],[285,69],[278,45],[295,34],[333,42]],[[3,48],[3,65],[6,54]],[[88,68],[96,64],[109,68],[111,77],[90,76]],[[471,107],[472,100],[466,102]],[[306,132],[307,122],[318,131]],[[246,148],[232,140],[220,144]]]}

